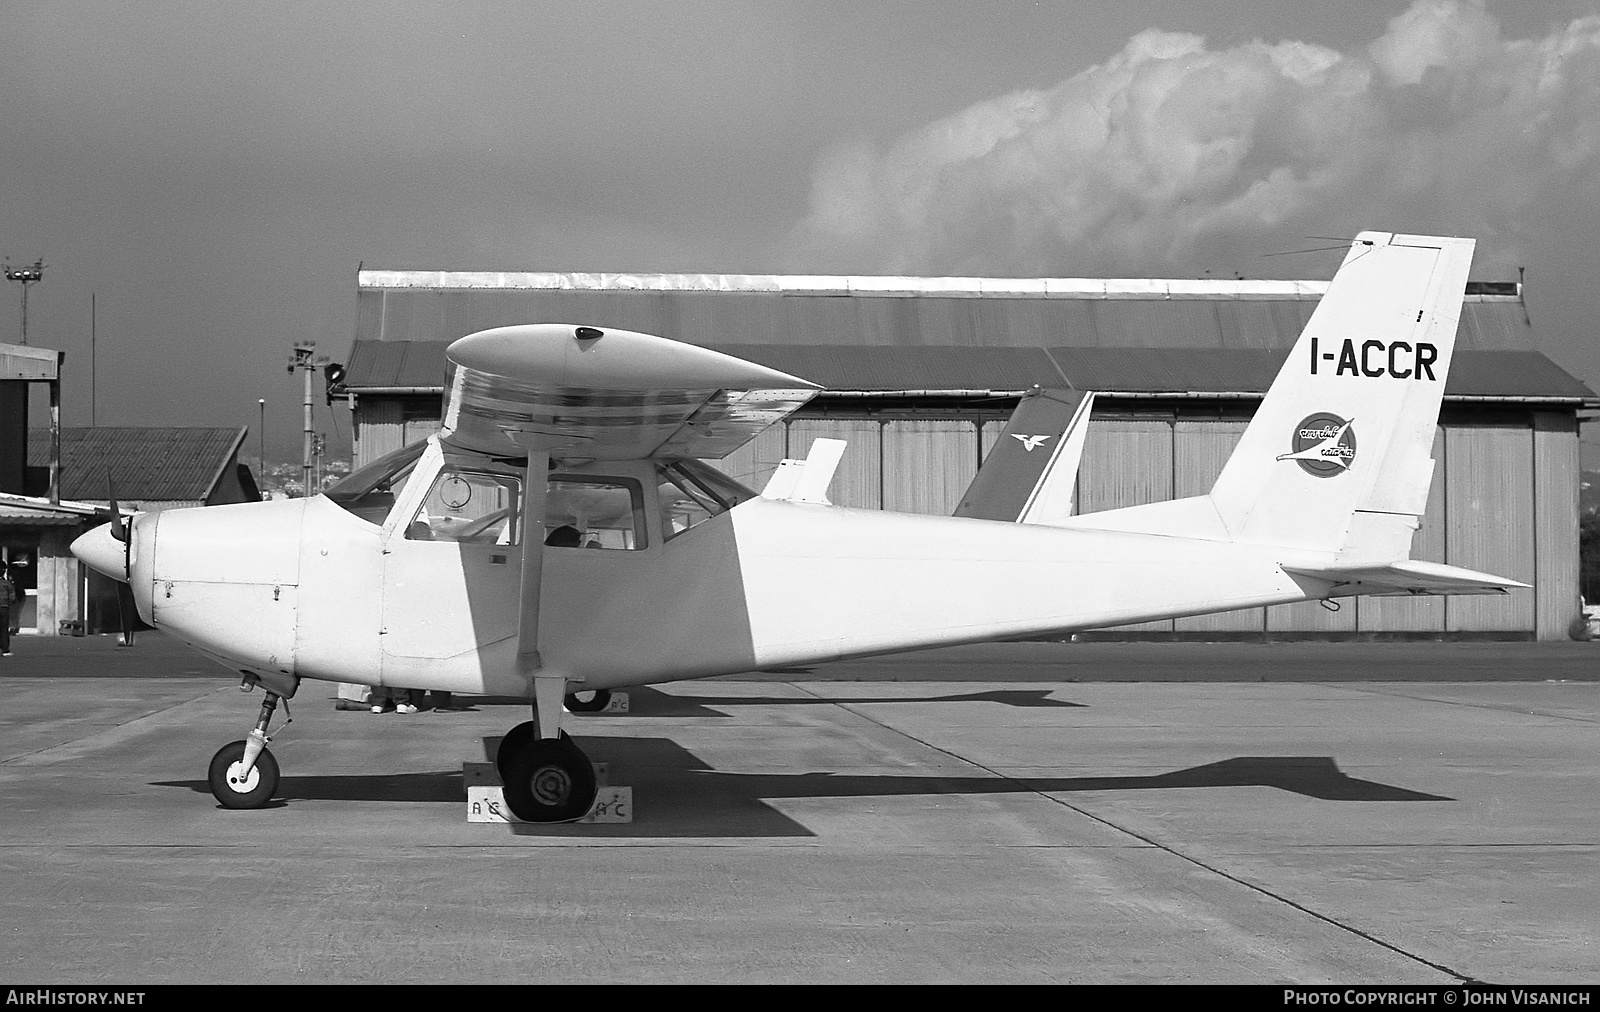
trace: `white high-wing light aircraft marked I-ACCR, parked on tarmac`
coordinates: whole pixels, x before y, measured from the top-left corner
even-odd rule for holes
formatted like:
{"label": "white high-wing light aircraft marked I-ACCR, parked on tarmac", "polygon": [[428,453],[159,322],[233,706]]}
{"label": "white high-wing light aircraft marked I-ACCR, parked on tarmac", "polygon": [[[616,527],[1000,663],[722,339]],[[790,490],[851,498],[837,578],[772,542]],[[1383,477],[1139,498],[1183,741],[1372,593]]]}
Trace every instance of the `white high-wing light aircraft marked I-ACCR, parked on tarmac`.
{"label": "white high-wing light aircraft marked I-ACCR, parked on tarmac", "polygon": [[573,820],[595,796],[560,727],[579,692],[1525,586],[1410,559],[1472,245],[1357,237],[1202,496],[1070,516],[1075,453],[1043,432],[1016,432],[1016,452],[1054,466],[998,519],[832,506],[843,447],[827,440],[757,495],[701,460],[814,384],[650,335],[536,323],[454,341],[440,434],[325,495],[144,512],[72,549],[130,583],[147,623],[264,689],[254,730],[211,761],[222,805],[272,797],[278,700],[325,679],[528,698],[533,719],[496,756],[506,801],[530,821]]}

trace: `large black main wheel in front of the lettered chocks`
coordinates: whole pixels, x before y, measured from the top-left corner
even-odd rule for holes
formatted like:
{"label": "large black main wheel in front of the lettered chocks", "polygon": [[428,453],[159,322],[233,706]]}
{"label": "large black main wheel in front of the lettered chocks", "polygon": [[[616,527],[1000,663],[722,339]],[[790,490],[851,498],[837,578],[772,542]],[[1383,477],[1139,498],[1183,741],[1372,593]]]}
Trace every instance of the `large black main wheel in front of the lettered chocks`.
{"label": "large black main wheel in front of the lettered chocks", "polygon": [[[597,690],[594,695],[610,698],[605,690]],[[541,697],[555,709],[554,727],[547,729],[555,730],[560,725],[560,705],[557,703],[560,697],[547,690]],[[568,709],[592,713],[571,706],[571,695],[566,700]],[[597,709],[603,708],[605,701]],[[494,765],[499,769],[501,785],[504,785],[506,805],[523,821],[558,823],[582,818],[594,805],[598,791],[595,767],[565,730],[555,737],[539,735],[538,703],[534,703],[533,714],[533,721],[506,732],[499,751],[494,753]]]}

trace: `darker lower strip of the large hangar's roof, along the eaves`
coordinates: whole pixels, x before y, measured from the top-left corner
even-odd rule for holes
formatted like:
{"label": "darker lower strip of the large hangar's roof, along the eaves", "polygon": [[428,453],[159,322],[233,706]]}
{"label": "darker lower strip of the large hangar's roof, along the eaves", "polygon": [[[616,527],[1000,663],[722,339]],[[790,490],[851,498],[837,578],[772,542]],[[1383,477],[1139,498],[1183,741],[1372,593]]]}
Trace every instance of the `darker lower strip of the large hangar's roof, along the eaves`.
{"label": "darker lower strip of the large hangar's roof, along the eaves", "polygon": [[[933,396],[1021,392],[1030,386],[1128,394],[1256,396],[1272,384],[1283,349],[1198,347],[930,347],[870,344],[712,344],[821,383],[827,392]],[[344,389],[442,394],[443,341],[357,341]],[[827,396],[824,392],[824,396]],[[1600,404],[1536,351],[1458,351],[1445,396],[1470,400]]]}

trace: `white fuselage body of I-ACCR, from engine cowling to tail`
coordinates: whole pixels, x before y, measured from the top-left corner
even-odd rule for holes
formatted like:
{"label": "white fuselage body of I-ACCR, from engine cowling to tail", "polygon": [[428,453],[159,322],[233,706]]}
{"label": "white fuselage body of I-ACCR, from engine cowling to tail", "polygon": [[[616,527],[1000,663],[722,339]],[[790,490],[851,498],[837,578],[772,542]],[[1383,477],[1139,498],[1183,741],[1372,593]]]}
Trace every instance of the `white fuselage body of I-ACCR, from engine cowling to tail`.
{"label": "white fuselage body of I-ACCR, from engine cowling to tail", "polygon": [[[402,498],[400,511],[414,495]],[[517,546],[466,560],[480,549],[406,543],[323,496],[170,511],[136,530],[154,544],[136,552],[134,586],[157,628],[230,666],[531,695],[515,665]],[[547,548],[539,650],[584,687],[642,685],[1304,600],[1282,567],[1318,560],[754,498],[643,551]]]}

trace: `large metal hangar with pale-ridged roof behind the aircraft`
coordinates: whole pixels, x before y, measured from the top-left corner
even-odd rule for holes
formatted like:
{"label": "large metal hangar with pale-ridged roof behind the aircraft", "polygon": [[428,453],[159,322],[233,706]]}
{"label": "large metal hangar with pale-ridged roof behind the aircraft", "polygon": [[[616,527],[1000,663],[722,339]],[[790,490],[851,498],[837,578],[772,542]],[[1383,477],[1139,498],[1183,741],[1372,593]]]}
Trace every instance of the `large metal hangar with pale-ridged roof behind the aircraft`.
{"label": "large metal hangar with pale-ridged roof behind the aircraft", "polygon": [[[1326,282],[360,271],[330,388],[355,466],[438,428],[445,344],[571,322],[706,344],[827,388],[722,466],[760,487],[850,440],[846,506],[949,514],[1032,388],[1096,391],[1077,509],[1197,495]],[[1600,397],[1536,347],[1517,282],[1470,282],[1414,556],[1533,584],[1504,597],[1315,602],[1125,626],[1138,637],[1565,639],[1578,592],[1578,423]]]}

